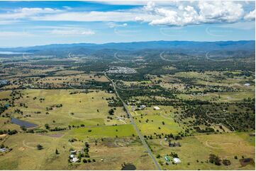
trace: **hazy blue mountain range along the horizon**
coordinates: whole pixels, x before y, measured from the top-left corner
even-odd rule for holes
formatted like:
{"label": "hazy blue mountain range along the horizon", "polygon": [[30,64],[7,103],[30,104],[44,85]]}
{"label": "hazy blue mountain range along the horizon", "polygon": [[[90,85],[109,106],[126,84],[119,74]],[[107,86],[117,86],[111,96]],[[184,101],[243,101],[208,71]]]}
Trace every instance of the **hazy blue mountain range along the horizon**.
{"label": "hazy blue mountain range along the horizon", "polygon": [[104,50],[137,51],[142,49],[167,49],[175,52],[184,51],[252,51],[255,52],[255,40],[225,42],[193,42],[193,41],[150,41],[150,42],[118,42],[105,44],[76,43],[52,44],[34,47],[0,48],[1,52],[24,52],[33,54],[92,54]]}

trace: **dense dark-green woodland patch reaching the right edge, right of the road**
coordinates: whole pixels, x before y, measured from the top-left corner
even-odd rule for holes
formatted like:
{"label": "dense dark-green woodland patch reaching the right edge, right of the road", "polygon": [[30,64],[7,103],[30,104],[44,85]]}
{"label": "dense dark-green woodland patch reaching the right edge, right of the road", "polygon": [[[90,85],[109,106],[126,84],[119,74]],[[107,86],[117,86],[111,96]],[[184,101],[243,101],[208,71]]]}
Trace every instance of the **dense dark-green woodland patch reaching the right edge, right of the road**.
{"label": "dense dark-green woodland patch reaching the right edge, right of the road", "polygon": [[[189,106],[191,107],[187,107],[182,113],[182,118],[194,117],[195,122],[191,123],[193,126],[200,124],[210,126],[221,122],[231,131],[255,129],[255,103],[253,103],[253,100],[252,102],[211,103],[211,105],[189,104]],[[231,107],[235,109],[235,112],[227,112]],[[211,132],[213,130],[198,131]]]}

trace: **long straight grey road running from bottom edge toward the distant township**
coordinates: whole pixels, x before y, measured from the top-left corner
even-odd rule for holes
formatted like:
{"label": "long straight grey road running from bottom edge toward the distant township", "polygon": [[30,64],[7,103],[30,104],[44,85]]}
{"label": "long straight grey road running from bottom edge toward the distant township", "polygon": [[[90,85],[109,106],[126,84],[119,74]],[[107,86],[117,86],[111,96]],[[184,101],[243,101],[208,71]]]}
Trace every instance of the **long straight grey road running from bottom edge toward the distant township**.
{"label": "long straight grey road running from bottom edge toward the distant township", "polygon": [[115,86],[115,83],[113,83],[113,81],[111,80],[111,78],[109,78],[107,75],[106,75],[106,72],[104,72],[104,75],[106,76],[106,78],[108,78],[109,81],[111,81],[112,85],[113,85],[113,90],[115,91],[116,93],[116,96],[123,102],[123,107],[126,109],[126,113],[130,119],[130,124],[133,125],[133,127],[135,128],[138,136],[140,137],[140,140],[142,141],[143,143],[143,146],[145,146],[145,148],[147,149],[148,151],[148,154],[150,155],[150,157],[152,158],[152,160],[154,161],[155,163],[155,166],[157,167],[158,170],[162,170],[159,163],[157,162],[155,156],[153,155],[152,151],[150,150],[150,147],[148,146],[148,143],[146,143],[145,139],[143,138],[143,135],[140,133],[140,129],[138,128],[137,124],[134,122],[133,120],[133,116],[130,114],[130,111],[128,110],[128,106],[126,105],[126,102],[123,101],[123,99],[120,98],[117,90],[116,90],[116,86]]}

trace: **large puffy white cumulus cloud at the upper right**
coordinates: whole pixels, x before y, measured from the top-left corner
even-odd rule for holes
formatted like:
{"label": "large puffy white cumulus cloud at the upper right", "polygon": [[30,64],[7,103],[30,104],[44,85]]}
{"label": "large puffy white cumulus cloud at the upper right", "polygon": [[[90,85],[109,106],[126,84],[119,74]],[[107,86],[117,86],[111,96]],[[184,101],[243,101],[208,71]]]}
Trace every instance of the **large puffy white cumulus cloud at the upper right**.
{"label": "large puffy white cumulus cloud at the upper right", "polygon": [[143,9],[156,17],[150,21],[150,25],[233,23],[244,16],[243,6],[233,1],[199,1],[195,6],[180,4],[178,8],[157,7],[148,2]]}

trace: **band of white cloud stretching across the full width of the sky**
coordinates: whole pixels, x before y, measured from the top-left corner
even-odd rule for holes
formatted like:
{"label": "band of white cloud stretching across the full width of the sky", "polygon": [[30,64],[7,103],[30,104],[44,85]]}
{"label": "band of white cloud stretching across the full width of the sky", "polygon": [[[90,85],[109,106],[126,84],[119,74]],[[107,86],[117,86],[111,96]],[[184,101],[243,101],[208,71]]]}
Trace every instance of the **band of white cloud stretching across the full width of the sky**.
{"label": "band of white cloud stretching across the full width of the sky", "polygon": [[[245,11],[240,1],[149,1],[144,6],[115,11],[73,11],[72,8],[18,8],[0,13],[0,23],[18,20],[77,22],[143,22],[149,25],[185,26],[255,20],[255,10]],[[116,27],[116,25],[111,25]]]}

